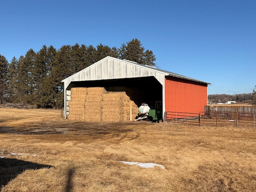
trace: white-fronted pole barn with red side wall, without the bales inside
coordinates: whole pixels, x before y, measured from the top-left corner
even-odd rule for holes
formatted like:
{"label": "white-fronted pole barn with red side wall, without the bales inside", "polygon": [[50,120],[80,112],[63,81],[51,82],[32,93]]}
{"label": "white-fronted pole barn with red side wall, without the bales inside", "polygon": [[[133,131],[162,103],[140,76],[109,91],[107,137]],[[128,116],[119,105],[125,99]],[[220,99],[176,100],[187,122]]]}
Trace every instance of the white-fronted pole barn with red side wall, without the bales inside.
{"label": "white-fronted pole barn with red side wall, without the bales inside", "polygon": [[207,86],[210,84],[110,56],[62,82],[64,82],[65,118],[71,114],[68,103],[72,101],[72,88],[101,87],[106,92],[125,92],[137,106],[145,102],[153,109],[155,103],[161,101],[164,115],[165,111],[189,113],[204,111],[204,106],[207,105]]}

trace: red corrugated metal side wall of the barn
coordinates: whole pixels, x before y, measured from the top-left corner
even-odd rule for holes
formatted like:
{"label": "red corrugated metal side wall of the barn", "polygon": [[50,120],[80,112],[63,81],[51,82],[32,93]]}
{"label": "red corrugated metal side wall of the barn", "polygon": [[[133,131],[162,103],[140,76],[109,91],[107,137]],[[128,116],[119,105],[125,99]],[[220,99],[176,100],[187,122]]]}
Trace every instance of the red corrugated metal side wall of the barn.
{"label": "red corrugated metal side wall of the barn", "polygon": [[207,105],[207,84],[176,77],[165,78],[165,110],[199,113]]}

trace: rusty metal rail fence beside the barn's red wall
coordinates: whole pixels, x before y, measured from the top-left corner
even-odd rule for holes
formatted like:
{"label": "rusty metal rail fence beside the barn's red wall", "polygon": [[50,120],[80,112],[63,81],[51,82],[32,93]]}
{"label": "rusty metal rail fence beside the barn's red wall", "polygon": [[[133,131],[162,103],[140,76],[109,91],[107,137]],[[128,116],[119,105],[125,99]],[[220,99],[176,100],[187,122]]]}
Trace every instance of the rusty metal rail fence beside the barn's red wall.
{"label": "rusty metal rail fence beside the barn's red wall", "polygon": [[256,126],[256,114],[230,111],[208,111],[196,113],[166,112],[165,120],[180,124],[198,126]]}

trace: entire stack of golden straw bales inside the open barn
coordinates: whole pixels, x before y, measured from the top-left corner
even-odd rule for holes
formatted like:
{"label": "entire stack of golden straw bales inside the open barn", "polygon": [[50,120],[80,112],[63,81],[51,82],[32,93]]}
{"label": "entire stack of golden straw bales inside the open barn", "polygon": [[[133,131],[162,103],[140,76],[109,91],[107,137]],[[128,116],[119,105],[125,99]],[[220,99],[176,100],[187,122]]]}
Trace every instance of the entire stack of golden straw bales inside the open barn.
{"label": "entire stack of golden straw bales inside the open barn", "polygon": [[107,92],[102,87],[72,88],[70,120],[116,122],[135,119],[138,106],[126,92]]}

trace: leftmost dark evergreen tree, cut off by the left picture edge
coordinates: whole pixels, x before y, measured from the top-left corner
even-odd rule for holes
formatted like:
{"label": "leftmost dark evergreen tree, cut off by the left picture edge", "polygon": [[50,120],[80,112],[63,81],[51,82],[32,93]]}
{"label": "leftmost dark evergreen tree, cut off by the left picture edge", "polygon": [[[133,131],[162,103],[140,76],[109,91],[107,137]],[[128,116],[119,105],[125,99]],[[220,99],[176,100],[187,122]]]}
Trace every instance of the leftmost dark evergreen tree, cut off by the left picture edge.
{"label": "leftmost dark evergreen tree, cut off by the left picture edge", "polygon": [[0,104],[6,98],[8,61],[0,54]]}

